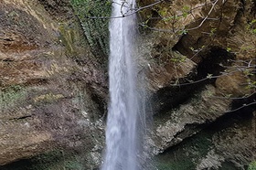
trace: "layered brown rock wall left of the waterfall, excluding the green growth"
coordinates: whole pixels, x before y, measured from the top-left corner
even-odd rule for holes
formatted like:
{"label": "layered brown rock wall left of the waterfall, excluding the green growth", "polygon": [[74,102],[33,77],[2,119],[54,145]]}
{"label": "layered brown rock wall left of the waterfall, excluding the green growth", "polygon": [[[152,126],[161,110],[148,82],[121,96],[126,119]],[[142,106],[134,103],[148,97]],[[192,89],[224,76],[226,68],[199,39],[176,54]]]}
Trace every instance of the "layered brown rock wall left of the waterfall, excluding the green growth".
{"label": "layered brown rock wall left of the waterfall, excluding the green growth", "polygon": [[88,47],[68,1],[0,2],[0,165],[95,165],[107,83]]}

